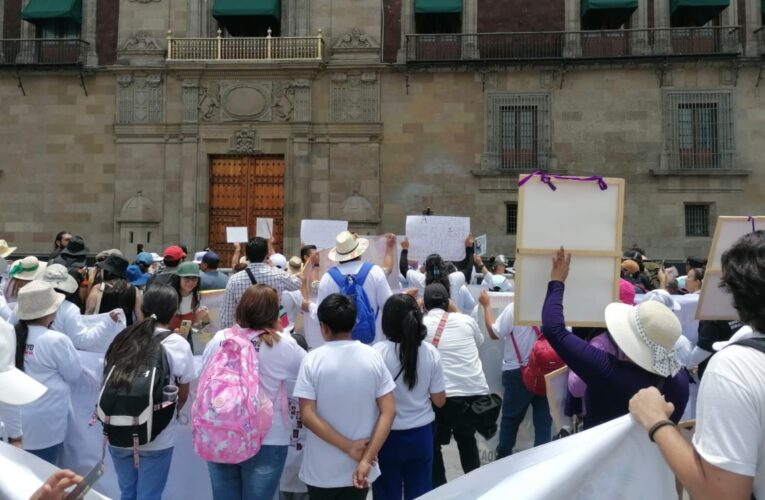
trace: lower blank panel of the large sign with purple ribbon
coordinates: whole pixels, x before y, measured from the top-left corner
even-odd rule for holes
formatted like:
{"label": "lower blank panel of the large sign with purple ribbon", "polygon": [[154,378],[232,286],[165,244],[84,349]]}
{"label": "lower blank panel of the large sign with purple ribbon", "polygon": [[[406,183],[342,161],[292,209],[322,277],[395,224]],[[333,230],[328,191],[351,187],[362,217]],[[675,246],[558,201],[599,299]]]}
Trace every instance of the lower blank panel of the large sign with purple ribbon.
{"label": "lower blank panel of the large sign with purple ribbon", "polygon": [[[571,257],[571,270],[563,295],[567,325],[589,326],[605,322],[606,306],[614,302],[614,295],[618,297],[619,262],[618,257]],[[552,253],[516,256],[516,324],[541,324],[551,269]],[[597,283],[597,286],[587,286],[586,283]]]}

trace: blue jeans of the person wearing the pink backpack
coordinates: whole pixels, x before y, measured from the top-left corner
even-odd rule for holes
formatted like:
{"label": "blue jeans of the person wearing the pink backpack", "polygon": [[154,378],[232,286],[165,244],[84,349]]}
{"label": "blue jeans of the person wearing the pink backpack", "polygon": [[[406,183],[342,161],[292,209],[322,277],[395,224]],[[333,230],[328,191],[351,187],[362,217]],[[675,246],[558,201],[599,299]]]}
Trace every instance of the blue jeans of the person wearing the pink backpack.
{"label": "blue jeans of the person wearing the pink backpack", "polygon": [[279,489],[287,446],[263,445],[239,464],[207,462],[215,500],[272,500]]}

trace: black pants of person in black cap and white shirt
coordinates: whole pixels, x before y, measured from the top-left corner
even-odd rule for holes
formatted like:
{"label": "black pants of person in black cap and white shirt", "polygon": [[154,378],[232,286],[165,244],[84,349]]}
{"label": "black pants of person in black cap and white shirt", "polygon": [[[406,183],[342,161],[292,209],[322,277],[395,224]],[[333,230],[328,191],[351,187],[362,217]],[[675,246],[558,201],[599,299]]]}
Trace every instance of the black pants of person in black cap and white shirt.
{"label": "black pants of person in black cap and white shirt", "polygon": [[449,444],[454,436],[460,454],[462,472],[481,466],[478,444],[475,441],[475,425],[466,416],[466,407],[482,396],[454,396],[446,398],[446,404],[436,411],[436,429],[433,442],[433,488],[446,484],[446,468],[441,446]]}

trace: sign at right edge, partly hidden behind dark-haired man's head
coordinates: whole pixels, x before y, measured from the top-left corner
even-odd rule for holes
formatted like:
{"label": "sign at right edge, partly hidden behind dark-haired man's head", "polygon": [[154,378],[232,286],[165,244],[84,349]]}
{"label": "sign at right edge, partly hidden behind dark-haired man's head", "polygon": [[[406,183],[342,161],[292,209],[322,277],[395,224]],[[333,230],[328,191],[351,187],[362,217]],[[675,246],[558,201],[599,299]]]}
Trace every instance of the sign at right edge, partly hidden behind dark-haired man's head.
{"label": "sign at right edge, partly hidden behind dark-haired man's head", "polygon": [[722,254],[733,246],[740,237],[757,229],[765,229],[765,216],[718,217],[709,259],[701,284],[696,319],[734,320],[739,319],[733,307],[731,295],[720,288],[722,278]]}

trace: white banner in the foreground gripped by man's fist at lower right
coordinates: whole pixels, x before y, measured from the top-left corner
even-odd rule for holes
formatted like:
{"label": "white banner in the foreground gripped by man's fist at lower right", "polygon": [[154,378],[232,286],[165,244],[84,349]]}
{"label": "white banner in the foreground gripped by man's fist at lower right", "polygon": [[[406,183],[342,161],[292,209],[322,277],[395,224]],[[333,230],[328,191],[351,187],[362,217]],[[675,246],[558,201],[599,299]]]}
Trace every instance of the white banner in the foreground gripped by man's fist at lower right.
{"label": "white banner in the foreground gripped by man's fist at lower right", "polygon": [[676,498],[659,449],[625,415],[585,432],[485,465],[423,500]]}

